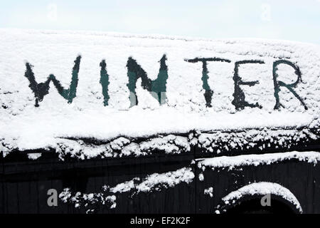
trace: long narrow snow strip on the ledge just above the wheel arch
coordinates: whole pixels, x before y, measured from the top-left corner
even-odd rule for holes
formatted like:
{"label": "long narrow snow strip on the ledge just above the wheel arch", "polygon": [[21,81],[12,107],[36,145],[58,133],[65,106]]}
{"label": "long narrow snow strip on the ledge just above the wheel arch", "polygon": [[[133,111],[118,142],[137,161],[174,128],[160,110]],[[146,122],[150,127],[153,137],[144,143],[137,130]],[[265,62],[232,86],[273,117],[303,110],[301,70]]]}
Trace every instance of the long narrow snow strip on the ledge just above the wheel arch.
{"label": "long narrow snow strip on the ledge just above the wheel arch", "polygon": [[245,165],[270,165],[275,162],[282,162],[284,160],[297,159],[303,162],[314,163],[320,160],[320,152],[306,151],[306,152],[279,152],[262,155],[239,155],[239,156],[222,156],[212,157],[206,159],[199,159],[198,167],[205,170],[206,167],[215,169],[221,167],[228,167],[232,170],[235,167],[243,167]]}

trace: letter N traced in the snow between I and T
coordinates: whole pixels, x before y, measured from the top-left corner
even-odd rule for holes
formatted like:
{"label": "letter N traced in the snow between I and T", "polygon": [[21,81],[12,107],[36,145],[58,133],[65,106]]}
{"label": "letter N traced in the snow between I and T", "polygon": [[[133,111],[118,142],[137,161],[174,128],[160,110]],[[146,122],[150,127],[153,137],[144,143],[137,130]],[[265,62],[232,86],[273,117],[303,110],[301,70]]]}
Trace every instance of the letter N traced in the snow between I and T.
{"label": "letter N traced in the snow between I and T", "polygon": [[[159,101],[160,105],[166,103],[166,80],[168,79],[168,67],[166,66],[166,55],[164,55],[160,62],[160,69],[158,78],[151,81],[146,75],[144,69],[135,61],[129,57],[127,62],[129,83],[127,84],[130,91],[130,107],[137,105],[138,98],[136,93],[136,84],[138,78],[142,79],[142,87],[148,90],[151,95]],[[133,97],[132,97],[133,94]]]}

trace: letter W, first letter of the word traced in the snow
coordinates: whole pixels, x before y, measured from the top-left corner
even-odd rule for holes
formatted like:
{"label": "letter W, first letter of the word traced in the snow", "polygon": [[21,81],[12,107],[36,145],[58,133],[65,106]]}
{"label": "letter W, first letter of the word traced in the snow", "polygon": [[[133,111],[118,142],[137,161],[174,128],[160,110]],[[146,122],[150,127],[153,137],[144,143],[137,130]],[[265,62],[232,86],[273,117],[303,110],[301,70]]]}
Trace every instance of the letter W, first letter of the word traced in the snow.
{"label": "letter W, first letter of the word traced in the snow", "polygon": [[39,102],[43,100],[43,97],[49,93],[50,81],[53,81],[53,85],[55,86],[55,88],[57,88],[58,93],[63,98],[65,98],[65,100],[68,100],[68,103],[73,102],[73,98],[75,98],[76,96],[78,87],[80,59],[81,56],[78,56],[75,59],[75,66],[73,66],[71,83],[68,89],[64,89],[63,86],[61,86],[60,81],[55,79],[55,76],[53,74],[50,74],[50,76],[47,78],[47,81],[45,81],[44,83],[37,83],[36,78],[34,77],[34,73],[32,71],[33,66],[30,63],[26,63],[26,73],[24,74],[24,76],[28,78],[29,87],[31,88],[31,90],[34,93],[34,96],[36,97],[36,107],[39,106]]}

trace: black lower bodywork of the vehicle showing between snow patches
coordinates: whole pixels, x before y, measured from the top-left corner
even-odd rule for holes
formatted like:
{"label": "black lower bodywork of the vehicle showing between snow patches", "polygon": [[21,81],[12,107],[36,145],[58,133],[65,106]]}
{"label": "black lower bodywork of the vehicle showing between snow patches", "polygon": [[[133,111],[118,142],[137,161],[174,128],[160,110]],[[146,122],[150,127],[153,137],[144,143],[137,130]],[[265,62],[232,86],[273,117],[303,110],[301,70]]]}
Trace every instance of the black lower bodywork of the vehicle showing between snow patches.
{"label": "black lower bodywork of the vehicle showing between snow patches", "polygon": [[[290,149],[231,150],[222,155],[240,155],[289,150],[318,150],[319,140],[301,142]],[[33,151],[35,152],[35,151]],[[74,191],[98,192],[102,185],[114,186],[134,177],[144,178],[154,172],[169,172],[181,167],[192,167],[195,178],[190,184],[139,193],[132,197],[117,195],[117,207],[109,209],[100,205],[97,213],[213,213],[221,198],[250,182],[277,182],[287,187],[297,197],[304,213],[320,213],[320,167],[299,160],[286,160],[272,165],[238,167],[233,170],[206,169],[204,172],[192,160],[213,157],[197,146],[191,152],[165,155],[154,151],[144,157],[108,159],[58,160],[54,152],[43,152],[36,161],[26,160],[21,152],[12,152],[1,159],[0,167],[0,213],[84,213],[72,204],[58,201],[58,207],[48,207],[47,191],[54,188],[60,192],[64,187]],[[203,172],[204,180],[198,179]],[[204,195],[204,189],[213,187],[214,197]],[[276,199],[274,199],[276,200]],[[287,202],[283,202],[286,204]],[[277,202],[274,202],[277,204]],[[242,204],[243,205],[243,204]],[[292,205],[287,205],[292,208]],[[228,208],[226,208],[228,209]]]}

